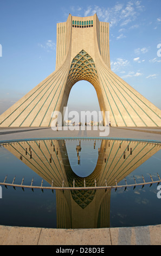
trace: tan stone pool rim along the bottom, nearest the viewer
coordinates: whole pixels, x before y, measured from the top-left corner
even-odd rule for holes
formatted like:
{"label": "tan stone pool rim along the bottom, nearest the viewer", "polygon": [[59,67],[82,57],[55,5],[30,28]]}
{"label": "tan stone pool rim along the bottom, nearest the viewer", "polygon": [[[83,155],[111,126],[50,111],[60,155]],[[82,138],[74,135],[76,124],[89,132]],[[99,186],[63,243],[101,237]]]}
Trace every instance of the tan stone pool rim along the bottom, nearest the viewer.
{"label": "tan stone pool rim along the bottom, nearest the viewer", "polygon": [[161,225],[101,229],[48,229],[0,225],[0,245],[161,245]]}

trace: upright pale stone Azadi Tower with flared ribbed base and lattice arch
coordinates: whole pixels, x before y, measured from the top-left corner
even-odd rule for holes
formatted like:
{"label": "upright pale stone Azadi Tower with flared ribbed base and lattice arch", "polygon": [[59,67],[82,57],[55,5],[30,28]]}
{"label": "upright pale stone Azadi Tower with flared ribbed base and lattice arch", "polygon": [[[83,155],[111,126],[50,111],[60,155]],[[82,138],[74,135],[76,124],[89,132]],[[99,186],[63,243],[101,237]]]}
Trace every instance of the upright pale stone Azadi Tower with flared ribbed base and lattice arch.
{"label": "upright pale stone Azadi Tower with flared ribbed base and lattice arch", "polygon": [[80,80],[94,86],[112,126],[161,126],[160,109],[111,71],[109,41],[109,23],[96,14],[69,14],[67,22],[57,24],[56,70],[1,115],[0,127],[50,126],[52,113],[63,114]]}

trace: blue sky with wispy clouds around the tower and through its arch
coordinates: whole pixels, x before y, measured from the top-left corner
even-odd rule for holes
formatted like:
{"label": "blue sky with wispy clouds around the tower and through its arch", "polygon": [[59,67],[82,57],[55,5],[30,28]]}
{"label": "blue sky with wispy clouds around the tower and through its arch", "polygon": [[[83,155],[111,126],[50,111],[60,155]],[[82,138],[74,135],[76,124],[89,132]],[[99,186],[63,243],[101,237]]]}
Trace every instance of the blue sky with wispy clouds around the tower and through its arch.
{"label": "blue sky with wispy clouds around the tower and through its arch", "polygon": [[[160,10],[160,0],[0,0],[0,114],[55,70],[56,23],[69,13],[110,22],[112,71],[161,109]],[[99,111],[92,84],[76,83],[68,108]]]}

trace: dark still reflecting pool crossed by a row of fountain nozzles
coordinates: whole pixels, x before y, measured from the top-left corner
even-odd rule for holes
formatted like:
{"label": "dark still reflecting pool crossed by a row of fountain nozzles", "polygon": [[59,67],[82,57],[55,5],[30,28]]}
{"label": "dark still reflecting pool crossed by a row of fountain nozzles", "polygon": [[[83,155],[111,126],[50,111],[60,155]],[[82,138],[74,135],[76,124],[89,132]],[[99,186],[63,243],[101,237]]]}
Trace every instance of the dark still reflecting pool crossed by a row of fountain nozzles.
{"label": "dark still reflecting pool crossed by a row of fountain nozzles", "polygon": [[[117,139],[42,139],[0,148],[0,182],[84,187],[41,190],[2,186],[0,225],[108,228],[161,224],[157,184],[89,190],[158,180],[160,144]],[[151,177],[150,177],[151,174]],[[143,177],[142,177],[143,175]],[[43,183],[42,183],[43,180]],[[161,183],[160,183],[161,185]]]}

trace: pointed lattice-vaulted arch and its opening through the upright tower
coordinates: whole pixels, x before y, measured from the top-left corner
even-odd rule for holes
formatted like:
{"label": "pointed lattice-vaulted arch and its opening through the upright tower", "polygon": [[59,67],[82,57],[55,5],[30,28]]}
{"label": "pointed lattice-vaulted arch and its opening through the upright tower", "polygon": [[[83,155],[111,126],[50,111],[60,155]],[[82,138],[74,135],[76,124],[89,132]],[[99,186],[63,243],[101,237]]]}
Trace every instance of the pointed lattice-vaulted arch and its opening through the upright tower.
{"label": "pointed lattice-vaulted arch and its opening through the upright tower", "polygon": [[[79,83],[80,86],[76,83]],[[74,86],[75,84],[76,86]],[[101,121],[100,111],[104,109],[104,102],[100,99],[100,95],[98,72],[94,60],[86,51],[82,50],[73,58],[70,65],[66,85],[66,101],[63,100],[65,104],[62,107],[67,106],[69,111],[77,111],[79,114],[81,111],[97,112],[96,120],[84,120],[84,123],[90,121],[96,123]]]}

